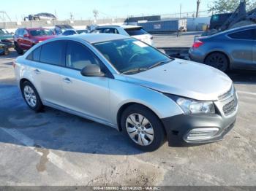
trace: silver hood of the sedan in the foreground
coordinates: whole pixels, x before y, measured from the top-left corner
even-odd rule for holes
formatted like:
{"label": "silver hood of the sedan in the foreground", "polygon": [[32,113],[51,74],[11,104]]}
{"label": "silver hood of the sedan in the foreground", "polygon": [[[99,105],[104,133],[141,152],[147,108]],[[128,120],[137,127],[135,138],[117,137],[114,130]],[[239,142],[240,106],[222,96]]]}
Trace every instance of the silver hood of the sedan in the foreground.
{"label": "silver hood of the sedan in the foreground", "polygon": [[198,101],[216,101],[233,83],[226,74],[211,66],[180,59],[126,78],[128,82],[162,93]]}

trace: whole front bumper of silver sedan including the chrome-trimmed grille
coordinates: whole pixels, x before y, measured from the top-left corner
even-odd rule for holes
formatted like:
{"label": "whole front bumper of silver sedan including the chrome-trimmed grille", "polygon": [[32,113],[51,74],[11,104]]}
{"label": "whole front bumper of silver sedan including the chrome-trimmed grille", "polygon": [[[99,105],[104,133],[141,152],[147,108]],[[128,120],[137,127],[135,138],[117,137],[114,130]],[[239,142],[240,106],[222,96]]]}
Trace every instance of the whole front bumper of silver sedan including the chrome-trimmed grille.
{"label": "whole front bumper of silver sedan including the chrome-trimmed grille", "polygon": [[233,128],[238,113],[238,95],[232,86],[214,101],[215,114],[179,114],[162,119],[170,146],[220,141]]}

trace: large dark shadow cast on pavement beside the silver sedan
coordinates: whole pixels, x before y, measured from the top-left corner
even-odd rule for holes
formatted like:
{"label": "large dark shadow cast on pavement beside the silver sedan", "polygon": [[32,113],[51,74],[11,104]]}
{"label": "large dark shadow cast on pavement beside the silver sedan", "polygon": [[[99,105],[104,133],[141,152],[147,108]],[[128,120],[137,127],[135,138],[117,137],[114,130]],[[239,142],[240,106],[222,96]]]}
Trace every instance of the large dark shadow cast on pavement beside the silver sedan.
{"label": "large dark shadow cast on pavement beside the silver sedan", "polygon": [[[0,128],[18,130],[35,147],[104,155],[141,153],[123,133],[108,126],[48,107],[40,113],[31,111],[16,85],[0,82],[0,91]],[[4,130],[0,141],[23,145]]]}

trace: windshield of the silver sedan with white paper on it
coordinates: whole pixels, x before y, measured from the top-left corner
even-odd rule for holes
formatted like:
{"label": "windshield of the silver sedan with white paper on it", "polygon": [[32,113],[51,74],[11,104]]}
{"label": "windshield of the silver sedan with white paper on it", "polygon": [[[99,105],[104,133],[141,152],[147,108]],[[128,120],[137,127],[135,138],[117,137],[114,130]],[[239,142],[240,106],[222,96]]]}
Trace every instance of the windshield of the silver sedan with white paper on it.
{"label": "windshield of the silver sedan with white paper on it", "polygon": [[118,39],[94,47],[122,74],[136,74],[173,61],[167,55],[137,39]]}

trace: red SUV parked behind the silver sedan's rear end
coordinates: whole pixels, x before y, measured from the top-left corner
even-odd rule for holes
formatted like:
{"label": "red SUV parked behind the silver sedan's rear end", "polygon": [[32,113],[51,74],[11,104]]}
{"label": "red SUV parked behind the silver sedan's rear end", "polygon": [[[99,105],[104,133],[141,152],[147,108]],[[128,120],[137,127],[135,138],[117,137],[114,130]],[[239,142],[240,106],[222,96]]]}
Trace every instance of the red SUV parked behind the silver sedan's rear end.
{"label": "red SUV parked behind the silver sedan's rear end", "polygon": [[56,37],[48,28],[18,28],[14,35],[15,50],[22,55],[24,50],[29,50],[34,44]]}

